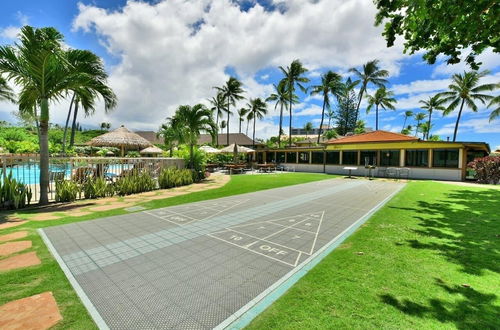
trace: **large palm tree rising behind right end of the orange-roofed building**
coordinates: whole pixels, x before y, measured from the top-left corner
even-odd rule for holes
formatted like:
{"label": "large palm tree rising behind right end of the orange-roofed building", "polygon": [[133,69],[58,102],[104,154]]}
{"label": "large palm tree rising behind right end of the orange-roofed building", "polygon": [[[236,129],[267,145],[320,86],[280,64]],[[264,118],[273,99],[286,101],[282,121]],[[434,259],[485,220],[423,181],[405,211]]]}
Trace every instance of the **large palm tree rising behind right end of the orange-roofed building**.
{"label": "large palm tree rising behind right end of the orange-roofed building", "polygon": [[452,77],[452,83],[448,86],[450,91],[438,94],[440,97],[444,97],[444,102],[450,102],[444,111],[444,115],[451,113],[460,104],[460,110],[458,111],[457,121],[455,123],[455,130],[453,131],[453,142],[455,142],[457,138],[458,124],[460,122],[460,117],[462,116],[464,104],[467,104],[472,111],[476,112],[477,105],[474,103],[475,101],[479,100],[481,103],[485,104],[486,101],[493,99],[493,96],[481,93],[492,91],[497,88],[498,85],[479,85],[479,80],[488,73],[489,71],[464,71],[463,74],[454,74]]}

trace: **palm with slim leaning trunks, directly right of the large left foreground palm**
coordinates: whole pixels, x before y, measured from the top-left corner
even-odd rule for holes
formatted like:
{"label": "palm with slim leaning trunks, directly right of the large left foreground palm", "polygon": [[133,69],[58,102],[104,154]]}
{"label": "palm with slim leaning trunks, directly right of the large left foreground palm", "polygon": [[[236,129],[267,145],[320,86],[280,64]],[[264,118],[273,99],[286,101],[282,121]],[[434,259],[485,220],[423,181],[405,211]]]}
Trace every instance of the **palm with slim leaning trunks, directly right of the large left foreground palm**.
{"label": "palm with slim leaning trunks, directly right of the large left foreground palm", "polygon": [[97,55],[88,50],[70,49],[66,51],[66,57],[73,70],[86,73],[88,77],[91,78],[91,81],[89,81],[87,86],[76,88],[73,91],[68,116],[66,117],[66,124],[64,126],[62,143],[63,153],[66,151],[66,134],[72,106],[74,106],[74,111],[69,142],[70,146],[73,146],[75,143],[76,123],[80,105],[85,115],[91,116],[95,112],[95,101],[99,97],[104,100],[105,112],[113,109],[117,104],[116,95],[107,85],[108,74],[104,69],[104,63]]}

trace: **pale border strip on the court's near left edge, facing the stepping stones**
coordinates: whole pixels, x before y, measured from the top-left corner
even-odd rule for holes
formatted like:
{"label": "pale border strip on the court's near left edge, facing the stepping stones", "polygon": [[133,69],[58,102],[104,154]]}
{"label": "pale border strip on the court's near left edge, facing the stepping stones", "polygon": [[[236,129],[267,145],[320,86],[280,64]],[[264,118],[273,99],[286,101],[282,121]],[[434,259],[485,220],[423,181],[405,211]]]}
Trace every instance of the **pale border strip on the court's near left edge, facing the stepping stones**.
{"label": "pale border strip on the court's near left edge, facing the stepping stones", "polygon": [[57,263],[59,264],[59,267],[61,267],[62,271],[64,272],[64,275],[66,275],[66,278],[69,280],[69,283],[71,284],[71,286],[75,290],[76,294],[78,295],[78,297],[80,297],[80,300],[82,301],[83,305],[85,306],[85,308],[89,312],[90,316],[94,320],[97,327],[99,329],[102,329],[102,330],[109,330],[109,327],[106,324],[106,322],[104,321],[104,319],[101,317],[101,314],[99,314],[99,312],[95,308],[94,304],[92,304],[89,297],[85,294],[85,291],[83,291],[80,284],[78,284],[77,280],[75,279],[75,277],[73,276],[73,274],[69,270],[68,266],[66,266],[66,264],[62,260],[61,256],[59,255],[59,253],[55,249],[54,245],[52,245],[52,242],[49,240],[49,238],[47,237],[47,235],[43,231],[43,228],[39,228],[39,229],[37,229],[37,231],[38,231],[38,234],[40,235],[40,237],[42,238],[43,242],[45,243],[45,245],[49,249],[52,256],[56,259]]}

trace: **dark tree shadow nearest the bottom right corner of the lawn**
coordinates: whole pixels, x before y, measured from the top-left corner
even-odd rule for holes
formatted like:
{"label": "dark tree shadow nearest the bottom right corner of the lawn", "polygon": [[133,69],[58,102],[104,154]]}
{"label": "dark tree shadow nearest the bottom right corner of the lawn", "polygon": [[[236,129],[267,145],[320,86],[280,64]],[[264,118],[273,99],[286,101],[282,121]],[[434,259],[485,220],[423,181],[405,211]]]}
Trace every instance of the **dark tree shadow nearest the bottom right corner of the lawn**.
{"label": "dark tree shadow nearest the bottom right corner of the lawn", "polygon": [[[429,299],[428,305],[409,299],[397,299],[384,294],[382,302],[401,312],[421,318],[434,318],[443,323],[452,322],[458,329],[494,329],[499,325],[500,307],[495,306],[496,295],[484,294],[470,287],[450,286],[436,278],[436,285],[451,295],[452,300]],[[496,326],[495,326],[496,324]]]}

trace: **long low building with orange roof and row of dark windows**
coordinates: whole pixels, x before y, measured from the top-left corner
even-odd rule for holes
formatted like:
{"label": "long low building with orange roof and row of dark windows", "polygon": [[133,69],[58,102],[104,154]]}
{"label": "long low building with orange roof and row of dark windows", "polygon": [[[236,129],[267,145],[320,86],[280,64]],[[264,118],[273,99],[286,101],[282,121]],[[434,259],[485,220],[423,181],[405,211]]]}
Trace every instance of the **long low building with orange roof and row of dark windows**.
{"label": "long low building with orange roof and row of dark windows", "polygon": [[425,141],[378,130],[315,147],[266,149],[257,161],[303,172],[463,181],[470,177],[467,164],[489,152],[484,142]]}

